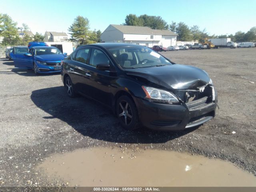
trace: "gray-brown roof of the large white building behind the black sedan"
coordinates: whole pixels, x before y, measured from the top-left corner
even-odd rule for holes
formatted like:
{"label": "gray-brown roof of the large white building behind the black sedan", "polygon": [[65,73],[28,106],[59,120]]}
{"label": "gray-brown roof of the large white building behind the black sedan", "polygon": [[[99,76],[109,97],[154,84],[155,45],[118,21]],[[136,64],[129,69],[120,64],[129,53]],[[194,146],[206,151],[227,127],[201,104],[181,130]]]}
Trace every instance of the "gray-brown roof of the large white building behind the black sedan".
{"label": "gray-brown roof of the large white building behind the black sedan", "polygon": [[143,26],[130,25],[111,25],[124,34],[153,34],[153,35],[176,35],[176,33],[169,30],[151,29]]}

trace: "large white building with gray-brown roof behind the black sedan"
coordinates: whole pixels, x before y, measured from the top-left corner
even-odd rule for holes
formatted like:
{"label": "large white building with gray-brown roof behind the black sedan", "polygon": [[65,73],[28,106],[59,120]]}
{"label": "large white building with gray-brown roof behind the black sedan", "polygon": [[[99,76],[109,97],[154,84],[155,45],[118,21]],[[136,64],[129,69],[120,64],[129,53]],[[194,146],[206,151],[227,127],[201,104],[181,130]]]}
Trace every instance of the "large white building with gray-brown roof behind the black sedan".
{"label": "large white building with gray-brown roof behind the black sedan", "polygon": [[174,46],[177,34],[169,30],[157,30],[142,26],[109,25],[100,36],[101,42],[120,42],[140,44],[148,47],[154,45]]}

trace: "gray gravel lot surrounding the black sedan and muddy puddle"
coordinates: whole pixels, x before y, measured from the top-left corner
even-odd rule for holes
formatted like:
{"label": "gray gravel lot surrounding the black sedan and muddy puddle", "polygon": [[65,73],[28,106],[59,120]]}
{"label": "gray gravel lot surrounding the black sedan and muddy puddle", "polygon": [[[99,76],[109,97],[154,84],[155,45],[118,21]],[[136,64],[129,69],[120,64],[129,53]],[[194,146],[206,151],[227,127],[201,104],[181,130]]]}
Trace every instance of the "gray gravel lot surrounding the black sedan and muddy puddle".
{"label": "gray gravel lot surrounding the black sedan and muddy puddle", "polygon": [[35,76],[0,59],[0,186],[58,186],[35,166],[52,153],[93,146],[202,154],[256,175],[256,48],[162,54],[208,72],[218,90],[216,118],[182,132],[128,132],[97,102],[68,98],[60,74]]}

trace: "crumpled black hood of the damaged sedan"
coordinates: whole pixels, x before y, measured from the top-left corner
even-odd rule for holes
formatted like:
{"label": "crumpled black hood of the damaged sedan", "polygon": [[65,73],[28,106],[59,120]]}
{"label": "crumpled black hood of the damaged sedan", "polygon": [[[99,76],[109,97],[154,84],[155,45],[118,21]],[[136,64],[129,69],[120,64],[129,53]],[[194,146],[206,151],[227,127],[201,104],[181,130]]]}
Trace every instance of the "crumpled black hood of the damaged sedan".
{"label": "crumpled black hood of the damaged sedan", "polygon": [[175,90],[200,90],[210,82],[210,77],[204,70],[180,64],[126,69],[126,74]]}

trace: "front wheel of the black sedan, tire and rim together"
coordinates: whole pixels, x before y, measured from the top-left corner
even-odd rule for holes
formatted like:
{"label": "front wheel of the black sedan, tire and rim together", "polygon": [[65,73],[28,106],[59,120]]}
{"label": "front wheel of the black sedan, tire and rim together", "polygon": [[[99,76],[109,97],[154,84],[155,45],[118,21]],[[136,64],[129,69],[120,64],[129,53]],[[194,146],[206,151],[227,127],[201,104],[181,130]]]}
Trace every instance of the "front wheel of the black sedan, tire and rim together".
{"label": "front wheel of the black sedan, tire and rim together", "polygon": [[134,130],[138,128],[138,111],[130,97],[123,95],[118,98],[116,102],[116,114],[124,129]]}

